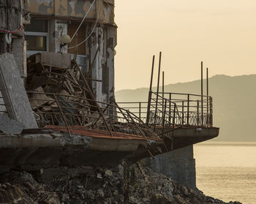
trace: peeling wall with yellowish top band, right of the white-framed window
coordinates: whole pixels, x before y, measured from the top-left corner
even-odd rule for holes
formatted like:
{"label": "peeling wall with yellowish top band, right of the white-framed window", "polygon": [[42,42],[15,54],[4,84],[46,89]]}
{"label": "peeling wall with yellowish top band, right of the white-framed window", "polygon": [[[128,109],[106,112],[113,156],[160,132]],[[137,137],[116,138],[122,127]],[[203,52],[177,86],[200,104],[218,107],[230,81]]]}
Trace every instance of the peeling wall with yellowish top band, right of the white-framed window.
{"label": "peeling wall with yellowish top band, right of the white-framed window", "polygon": [[[114,100],[114,55],[116,25],[113,0],[25,0],[31,20],[48,20],[48,52],[72,53],[88,78],[100,102]],[[91,4],[93,6],[91,7]],[[73,36],[81,19],[91,7],[83,25],[72,43],[61,47],[61,37]],[[97,23],[97,24],[96,24]],[[26,28],[25,28],[26,31]],[[87,39],[88,38],[88,39]],[[83,42],[79,45],[80,42]],[[79,45],[79,47],[69,49]],[[36,52],[32,52],[36,53]]]}

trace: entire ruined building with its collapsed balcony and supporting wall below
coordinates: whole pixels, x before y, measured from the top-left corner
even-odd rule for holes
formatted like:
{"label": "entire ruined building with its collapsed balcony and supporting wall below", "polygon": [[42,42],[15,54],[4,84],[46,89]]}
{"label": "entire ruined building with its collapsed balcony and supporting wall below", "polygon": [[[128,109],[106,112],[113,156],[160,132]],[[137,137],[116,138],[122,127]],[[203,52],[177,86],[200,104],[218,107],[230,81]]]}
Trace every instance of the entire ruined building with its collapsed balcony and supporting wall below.
{"label": "entire ruined building with its collapsed balcony and supporting wall below", "polygon": [[0,1],[0,15],[2,166],[152,157],[155,170],[195,188],[192,144],[219,134],[212,99],[150,88],[139,111],[116,103],[114,0]]}

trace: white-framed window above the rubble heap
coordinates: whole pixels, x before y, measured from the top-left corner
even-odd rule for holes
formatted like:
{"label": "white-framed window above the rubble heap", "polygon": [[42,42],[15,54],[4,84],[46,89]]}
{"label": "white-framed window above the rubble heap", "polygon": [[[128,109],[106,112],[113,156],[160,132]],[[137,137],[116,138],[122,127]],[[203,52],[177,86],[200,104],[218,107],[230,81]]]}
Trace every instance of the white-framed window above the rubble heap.
{"label": "white-framed window above the rubble heap", "polygon": [[48,51],[48,20],[31,19],[25,31],[29,54]]}

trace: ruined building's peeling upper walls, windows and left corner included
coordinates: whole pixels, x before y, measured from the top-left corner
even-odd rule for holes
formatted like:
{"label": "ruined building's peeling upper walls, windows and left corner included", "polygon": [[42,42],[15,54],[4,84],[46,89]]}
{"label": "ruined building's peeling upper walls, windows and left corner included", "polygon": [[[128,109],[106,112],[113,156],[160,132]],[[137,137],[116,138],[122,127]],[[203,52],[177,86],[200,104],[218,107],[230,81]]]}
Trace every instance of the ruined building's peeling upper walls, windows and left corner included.
{"label": "ruined building's peeling upper walls, windows and left corner included", "polygon": [[[13,39],[10,46],[10,52],[17,56],[15,59],[18,67],[22,67],[22,53],[28,56],[39,52],[67,53],[67,58],[75,57],[83,72],[95,79],[91,83],[98,101],[110,102],[114,99],[116,24],[113,0],[26,0],[1,1],[0,4],[1,29],[17,31],[21,26],[23,28],[23,34],[18,39]],[[4,12],[4,7],[9,8],[7,13]],[[69,45],[61,42],[61,37],[65,35],[72,37]],[[3,46],[1,49],[1,53],[4,53]],[[56,56],[50,58],[51,56],[47,57],[49,64],[51,61],[54,65],[60,60]],[[23,72],[20,74],[24,75]]]}

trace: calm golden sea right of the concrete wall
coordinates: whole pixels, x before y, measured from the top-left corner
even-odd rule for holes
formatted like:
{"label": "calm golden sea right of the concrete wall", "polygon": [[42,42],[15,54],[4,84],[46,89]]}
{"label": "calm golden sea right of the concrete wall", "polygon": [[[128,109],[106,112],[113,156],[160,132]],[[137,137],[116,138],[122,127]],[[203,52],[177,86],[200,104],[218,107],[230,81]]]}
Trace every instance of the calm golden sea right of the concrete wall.
{"label": "calm golden sea right of the concrete wall", "polygon": [[256,143],[201,143],[194,153],[198,189],[225,202],[256,203]]}

